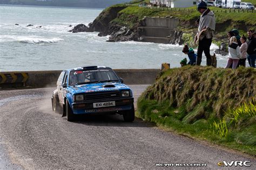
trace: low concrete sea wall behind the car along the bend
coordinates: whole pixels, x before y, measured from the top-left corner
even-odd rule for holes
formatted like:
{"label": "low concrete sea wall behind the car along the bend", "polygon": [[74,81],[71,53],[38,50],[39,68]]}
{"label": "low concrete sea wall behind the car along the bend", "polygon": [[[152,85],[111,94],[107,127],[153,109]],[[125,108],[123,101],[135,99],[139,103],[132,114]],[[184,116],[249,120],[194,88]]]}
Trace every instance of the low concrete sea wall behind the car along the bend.
{"label": "low concrete sea wall behind the car along the bend", "polygon": [[[114,69],[119,77],[124,79],[125,84],[152,84],[160,69]],[[1,83],[0,87],[56,87],[56,82],[61,70],[53,71],[32,71],[32,72],[0,72],[8,73],[28,73],[28,80],[25,83]]]}

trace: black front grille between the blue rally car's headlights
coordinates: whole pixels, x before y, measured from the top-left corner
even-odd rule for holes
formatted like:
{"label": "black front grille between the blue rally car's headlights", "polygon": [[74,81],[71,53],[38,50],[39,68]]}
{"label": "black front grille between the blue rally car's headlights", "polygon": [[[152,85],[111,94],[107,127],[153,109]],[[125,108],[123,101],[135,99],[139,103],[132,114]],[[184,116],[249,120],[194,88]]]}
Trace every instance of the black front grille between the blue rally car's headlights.
{"label": "black front grille between the blue rally car's headlights", "polygon": [[120,91],[100,91],[94,93],[86,93],[85,95],[86,102],[95,102],[95,101],[102,101],[102,100],[115,100],[120,98],[121,93]]}

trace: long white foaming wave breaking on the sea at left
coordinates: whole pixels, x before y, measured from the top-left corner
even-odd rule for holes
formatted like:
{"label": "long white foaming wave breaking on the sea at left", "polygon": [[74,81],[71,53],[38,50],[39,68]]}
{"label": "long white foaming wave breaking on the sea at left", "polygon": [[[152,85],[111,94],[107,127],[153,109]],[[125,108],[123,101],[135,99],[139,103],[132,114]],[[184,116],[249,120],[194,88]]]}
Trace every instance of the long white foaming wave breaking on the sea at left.
{"label": "long white foaming wave breaking on the sea at left", "polygon": [[18,42],[29,43],[29,44],[56,43],[63,40],[64,39],[61,39],[61,38],[46,39],[46,38],[30,38],[30,37],[17,39]]}

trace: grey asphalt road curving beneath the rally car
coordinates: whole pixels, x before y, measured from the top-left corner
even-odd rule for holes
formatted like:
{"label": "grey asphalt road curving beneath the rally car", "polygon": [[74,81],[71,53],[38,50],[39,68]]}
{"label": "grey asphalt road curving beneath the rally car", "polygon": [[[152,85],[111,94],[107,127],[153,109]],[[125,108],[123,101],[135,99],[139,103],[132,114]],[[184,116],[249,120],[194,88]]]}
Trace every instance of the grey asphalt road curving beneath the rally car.
{"label": "grey asphalt road curving beneath the rally car", "polygon": [[[145,85],[130,86],[137,98]],[[160,130],[119,115],[68,122],[51,110],[53,88],[0,91],[0,167],[3,169],[159,169],[156,164],[201,163],[225,169],[221,161],[256,160]],[[165,167],[191,169],[191,167]],[[198,167],[193,167],[196,169]],[[231,168],[231,167],[229,167]]]}

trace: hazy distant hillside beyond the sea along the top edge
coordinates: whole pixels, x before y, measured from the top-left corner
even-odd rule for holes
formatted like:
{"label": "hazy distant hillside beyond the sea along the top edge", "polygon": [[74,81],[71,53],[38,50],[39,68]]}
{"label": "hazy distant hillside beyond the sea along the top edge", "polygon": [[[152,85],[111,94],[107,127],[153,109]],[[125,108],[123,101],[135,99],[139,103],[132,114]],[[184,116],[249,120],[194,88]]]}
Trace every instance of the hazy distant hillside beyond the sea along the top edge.
{"label": "hazy distant hillside beyond the sea along the top edge", "polygon": [[0,4],[106,8],[113,4],[130,1],[131,0],[0,0]]}

